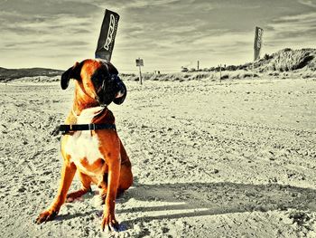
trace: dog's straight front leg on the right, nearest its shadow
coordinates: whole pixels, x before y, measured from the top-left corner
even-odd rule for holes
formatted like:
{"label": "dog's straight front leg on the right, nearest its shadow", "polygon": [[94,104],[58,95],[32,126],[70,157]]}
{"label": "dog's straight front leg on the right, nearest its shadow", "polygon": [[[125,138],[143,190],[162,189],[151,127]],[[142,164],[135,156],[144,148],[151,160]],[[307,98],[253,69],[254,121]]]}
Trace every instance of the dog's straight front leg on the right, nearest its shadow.
{"label": "dog's straight front leg on the right, nearest its shadow", "polygon": [[116,222],[115,207],[116,207],[116,193],[119,183],[120,175],[120,157],[117,155],[116,159],[111,159],[108,165],[108,180],[107,180],[107,198],[106,205],[103,212],[103,219],[101,229],[104,231],[118,231],[118,223]]}

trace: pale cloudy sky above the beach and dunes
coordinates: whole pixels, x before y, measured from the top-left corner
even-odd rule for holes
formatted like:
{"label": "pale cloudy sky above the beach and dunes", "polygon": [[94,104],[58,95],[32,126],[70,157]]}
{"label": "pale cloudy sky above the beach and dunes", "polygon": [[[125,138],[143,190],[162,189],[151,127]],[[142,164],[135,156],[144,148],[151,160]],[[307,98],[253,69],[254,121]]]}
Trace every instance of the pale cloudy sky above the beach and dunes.
{"label": "pale cloudy sky above the beach and dunes", "polygon": [[118,71],[180,71],[316,48],[316,0],[0,0],[0,67],[66,70],[94,58],[105,9],[120,15],[111,62]]}

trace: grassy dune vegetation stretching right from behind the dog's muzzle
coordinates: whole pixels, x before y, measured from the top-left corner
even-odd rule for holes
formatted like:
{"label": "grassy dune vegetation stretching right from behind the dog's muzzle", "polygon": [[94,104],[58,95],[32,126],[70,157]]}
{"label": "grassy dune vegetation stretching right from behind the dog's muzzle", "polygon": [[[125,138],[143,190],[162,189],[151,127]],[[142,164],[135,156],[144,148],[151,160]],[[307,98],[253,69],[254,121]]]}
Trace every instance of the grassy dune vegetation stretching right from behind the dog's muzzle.
{"label": "grassy dune vegetation stretching right from behind the dog's muzzle", "polygon": [[[316,49],[291,50],[289,48],[264,57],[256,62],[241,65],[224,65],[196,71],[191,69],[179,73],[153,74],[144,73],[144,81],[192,81],[192,80],[246,79],[265,74],[271,77],[303,79],[316,78]],[[121,74],[126,81],[138,81],[137,74]]]}

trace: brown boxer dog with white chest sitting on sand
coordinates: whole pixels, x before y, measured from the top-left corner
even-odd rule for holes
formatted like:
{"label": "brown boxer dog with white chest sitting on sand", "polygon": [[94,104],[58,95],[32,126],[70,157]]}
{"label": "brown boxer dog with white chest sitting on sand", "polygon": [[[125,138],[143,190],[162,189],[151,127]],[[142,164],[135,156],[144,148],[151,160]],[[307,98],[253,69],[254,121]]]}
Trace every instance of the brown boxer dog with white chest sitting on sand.
{"label": "brown boxer dog with white chest sitting on sand", "polygon": [[[115,118],[107,105],[121,104],[126,88],[117,76],[116,68],[107,61],[85,60],[76,62],[61,75],[61,88],[67,89],[70,79],[75,80],[75,97],[65,123],[114,125]],[[69,131],[61,138],[60,187],[52,204],[40,214],[37,224],[51,221],[65,201],[73,201],[90,191],[95,184],[105,199],[101,229],[117,231],[115,216],[116,195],[133,183],[131,163],[116,129],[89,129]],[[76,172],[82,187],[67,195]]]}

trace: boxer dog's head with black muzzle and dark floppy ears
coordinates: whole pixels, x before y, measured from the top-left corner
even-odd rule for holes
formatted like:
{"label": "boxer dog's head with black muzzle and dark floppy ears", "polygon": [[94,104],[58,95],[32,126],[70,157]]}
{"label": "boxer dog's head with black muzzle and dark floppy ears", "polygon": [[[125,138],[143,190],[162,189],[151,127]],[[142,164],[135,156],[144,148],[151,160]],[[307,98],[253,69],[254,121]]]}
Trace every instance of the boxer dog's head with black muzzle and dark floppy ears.
{"label": "boxer dog's head with black muzzle and dark floppy ears", "polygon": [[117,76],[116,67],[103,60],[85,60],[76,62],[61,75],[61,89],[66,90],[70,79],[77,81],[78,97],[88,97],[101,106],[107,106],[112,101],[121,104],[126,97],[126,87]]}

